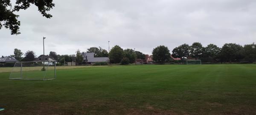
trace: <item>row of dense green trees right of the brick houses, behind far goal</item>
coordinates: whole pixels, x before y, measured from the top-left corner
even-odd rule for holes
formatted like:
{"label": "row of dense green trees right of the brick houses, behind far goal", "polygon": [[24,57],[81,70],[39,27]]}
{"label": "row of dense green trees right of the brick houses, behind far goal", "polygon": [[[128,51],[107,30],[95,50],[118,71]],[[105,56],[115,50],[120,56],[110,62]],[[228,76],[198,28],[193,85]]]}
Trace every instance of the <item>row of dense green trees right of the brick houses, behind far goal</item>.
{"label": "row of dense green trees right of the brick houses, behind far goal", "polygon": [[[166,46],[158,46],[152,54],[155,61],[164,63],[168,62],[170,52]],[[236,43],[225,43],[220,48],[215,44],[203,47],[199,42],[195,42],[191,46],[185,43],[172,50],[172,57],[182,60],[194,58],[207,63],[253,63],[256,61],[256,44],[241,46]]]}

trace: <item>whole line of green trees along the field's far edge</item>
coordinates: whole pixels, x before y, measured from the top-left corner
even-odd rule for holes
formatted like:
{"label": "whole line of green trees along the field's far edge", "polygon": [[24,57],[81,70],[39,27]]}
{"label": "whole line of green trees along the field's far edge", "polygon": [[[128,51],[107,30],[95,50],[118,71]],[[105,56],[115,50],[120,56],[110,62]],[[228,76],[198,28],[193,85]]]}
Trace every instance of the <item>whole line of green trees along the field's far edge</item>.
{"label": "whole line of green trees along the field's far edge", "polygon": [[[133,49],[122,49],[120,46],[113,46],[110,52],[101,47],[90,47],[87,52],[94,53],[94,57],[109,57],[110,63],[135,63],[136,58],[145,59],[145,54]],[[24,57],[22,57],[24,55]],[[187,60],[193,58],[201,60],[205,63],[253,63],[256,61],[256,44],[246,44],[241,46],[236,43],[225,43],[222,47],[215,44],[209,44],[204,47],[201,43],[195,42],[191,46],[184,43],[180,46],[170,50],[166,46],[157,46],[152,51],[153,60],[156,63],[169,62],[171,56],[173,58],[180,58]],[[20,49],[14,49],[14,55],[19,61],[33,61],[36,58],[35,52],[27,51],[25,54]],[[57,60],[59,63],[76,61],[76,64],[82,64],[83,57],[81,51],[77,50],[76,55],[57,55],[56,52],[49,52],[50,58]]]}

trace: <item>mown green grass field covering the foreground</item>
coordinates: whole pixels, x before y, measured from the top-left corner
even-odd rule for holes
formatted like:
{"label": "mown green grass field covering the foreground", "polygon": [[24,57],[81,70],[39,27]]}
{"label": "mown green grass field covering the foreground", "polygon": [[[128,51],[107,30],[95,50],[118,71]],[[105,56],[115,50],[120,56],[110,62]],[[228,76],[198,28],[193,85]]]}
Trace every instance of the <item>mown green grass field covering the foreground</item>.
{"label": "mown green grass field covering the foreground", "polygon": [[0,72],[0,115],[256,115],[256,64],[57,69],[46,81],[9,74]]}

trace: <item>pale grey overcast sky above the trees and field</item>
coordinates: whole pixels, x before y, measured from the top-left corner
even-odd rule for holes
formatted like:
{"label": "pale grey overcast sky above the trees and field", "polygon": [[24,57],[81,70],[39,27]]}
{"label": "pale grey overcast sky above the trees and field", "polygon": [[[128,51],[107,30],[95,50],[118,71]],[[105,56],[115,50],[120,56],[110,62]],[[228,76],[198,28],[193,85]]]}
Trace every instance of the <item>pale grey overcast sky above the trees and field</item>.
{"label": "pale grey overcast sky above the trees and field", "polygon": [[[65,2],[64,2],[65,1]],[[74,2],[76,1],[76,2]],[[20,35],[0,30],[0,55],[15,48],[43,54],[75,54],[119,45],[151,54],[152,49],[201,42],[240,45],[256,42],[256,0],[53,0],[51,19],[35,6],[20,10]],[[14,3],[14,0],[12,0]]]}

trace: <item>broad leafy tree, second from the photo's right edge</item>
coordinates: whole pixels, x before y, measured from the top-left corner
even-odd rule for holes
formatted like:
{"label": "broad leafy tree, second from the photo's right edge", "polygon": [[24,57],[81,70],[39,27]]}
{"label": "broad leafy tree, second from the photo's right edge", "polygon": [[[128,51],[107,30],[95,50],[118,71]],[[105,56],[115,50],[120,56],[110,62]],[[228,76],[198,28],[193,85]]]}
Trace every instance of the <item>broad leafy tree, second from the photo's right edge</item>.
{"label": "broad leafy tree, second from the photo's right edge", "polygon": [[243,47],[236,43],[225,43],[221,48],[221,61],[235,62],[244,58]]}

